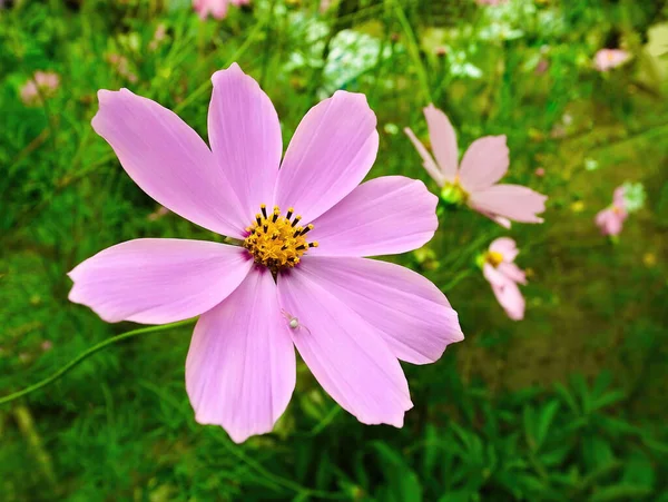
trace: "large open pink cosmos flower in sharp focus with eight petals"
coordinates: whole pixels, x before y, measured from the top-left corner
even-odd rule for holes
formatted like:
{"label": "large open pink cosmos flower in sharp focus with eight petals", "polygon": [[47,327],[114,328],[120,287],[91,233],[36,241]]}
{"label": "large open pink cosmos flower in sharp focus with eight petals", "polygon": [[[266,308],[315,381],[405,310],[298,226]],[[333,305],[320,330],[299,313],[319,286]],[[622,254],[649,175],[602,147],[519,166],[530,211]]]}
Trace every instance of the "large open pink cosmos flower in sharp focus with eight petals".
{"label": "large open pink cosmos flower in sharp focus with eight petals", "polygon": [[358,185],[379,148],[363,95],[337,91],[313,107],[281,161],[278,117],[257,82],[236,63],[212,80],[210,149],[174,112],[127,89],[99,91],[92,127],[150,197],[243,245],[118,244],[70,272],[69,298],[107,322],[200,315],[186,388],[196,420],[236,442],[269,432],[285,411],[293,345],[361,422],[401,426],[412,403],[399,360],[434,362],[463,335],[432,283],[361,256],[430,240],[436,197],[401,176]]}

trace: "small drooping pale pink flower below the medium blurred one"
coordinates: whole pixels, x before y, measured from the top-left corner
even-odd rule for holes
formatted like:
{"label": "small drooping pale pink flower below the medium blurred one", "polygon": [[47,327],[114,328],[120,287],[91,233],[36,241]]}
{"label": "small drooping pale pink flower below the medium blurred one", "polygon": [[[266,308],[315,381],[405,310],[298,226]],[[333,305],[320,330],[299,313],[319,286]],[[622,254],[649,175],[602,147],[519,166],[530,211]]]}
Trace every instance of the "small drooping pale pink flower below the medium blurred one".
{"label": "small drooping pale pink flower below the medium blurred one", "polygon": [[500,237],[490,245],[482,266],[497,301],[513,321],[524,317],[524,297],[518,284],[527,284],[527,276],[513,263],[519,253],[513,239]]}

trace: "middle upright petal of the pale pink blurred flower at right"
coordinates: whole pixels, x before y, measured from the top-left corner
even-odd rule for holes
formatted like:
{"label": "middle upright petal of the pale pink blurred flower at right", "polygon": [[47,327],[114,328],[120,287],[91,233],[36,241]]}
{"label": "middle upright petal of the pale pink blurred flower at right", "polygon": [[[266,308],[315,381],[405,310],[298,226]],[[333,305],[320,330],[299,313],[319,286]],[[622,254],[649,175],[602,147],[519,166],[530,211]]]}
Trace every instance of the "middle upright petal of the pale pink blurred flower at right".
{"label": "middle upright petal of the pale pink blurred flower at right", "polygon": [[471,144],[460,167],[460,181],[464,190],[474,193],[499,181],[510,159],[505,136],[485,136]]}

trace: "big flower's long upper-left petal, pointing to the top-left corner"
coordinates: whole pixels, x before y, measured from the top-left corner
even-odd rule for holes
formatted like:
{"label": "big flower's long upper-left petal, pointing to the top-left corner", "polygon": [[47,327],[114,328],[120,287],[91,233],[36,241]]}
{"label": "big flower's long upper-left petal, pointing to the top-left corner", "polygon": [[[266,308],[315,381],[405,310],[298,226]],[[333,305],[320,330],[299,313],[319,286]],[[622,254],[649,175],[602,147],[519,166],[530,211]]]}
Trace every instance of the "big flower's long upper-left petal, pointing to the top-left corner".
{"label": "big flower's long upper-left petal, pointing to the top-left corner", "polygon": [[130,178],[159,204],[209,230],[243,237],[248,225],[206,144],[176,114],[127,89],[100,90],[92,128]]}

